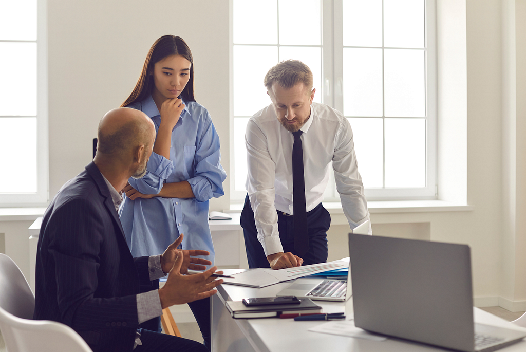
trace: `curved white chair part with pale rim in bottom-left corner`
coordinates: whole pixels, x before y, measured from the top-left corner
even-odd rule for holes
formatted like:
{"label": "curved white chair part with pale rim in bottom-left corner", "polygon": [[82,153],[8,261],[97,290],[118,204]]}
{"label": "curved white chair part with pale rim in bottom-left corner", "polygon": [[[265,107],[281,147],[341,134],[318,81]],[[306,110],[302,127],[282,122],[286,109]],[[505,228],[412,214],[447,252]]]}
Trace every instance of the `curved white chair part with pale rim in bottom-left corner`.
{"label": "curved white chair part with pale rim in bottom-left corner", "polygon": [[21,319],[2,308],[0,330],[8,351],[92,352],[86,341],[67,325],[50,320]]}

